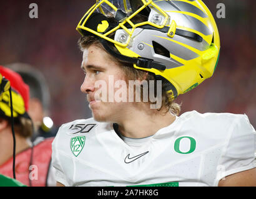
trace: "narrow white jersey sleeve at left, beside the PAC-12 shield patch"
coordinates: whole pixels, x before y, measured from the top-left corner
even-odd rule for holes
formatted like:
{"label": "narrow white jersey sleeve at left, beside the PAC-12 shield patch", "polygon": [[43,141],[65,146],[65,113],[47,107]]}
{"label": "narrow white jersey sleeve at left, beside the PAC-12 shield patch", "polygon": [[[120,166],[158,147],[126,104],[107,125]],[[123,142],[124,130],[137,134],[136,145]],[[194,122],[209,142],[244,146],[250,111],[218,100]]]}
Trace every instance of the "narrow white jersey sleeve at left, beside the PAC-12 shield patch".
{"label": "narrow white jersey sleeve at left, beside the PAC-12 shield patch", "polygon": [[67,183],[66,175],[64,174],[64,170],[62,169],[62,164],[60,160],[59,155],[59,135],[61,134],[61,127],[59,128],[59,131],[57,132],[56,137],[54,138],[54,141],[52,142],[52,167],[54,168],[55,174],[55,180],[56,182],[62,183],[66,187],[69,187],[69,183]]}

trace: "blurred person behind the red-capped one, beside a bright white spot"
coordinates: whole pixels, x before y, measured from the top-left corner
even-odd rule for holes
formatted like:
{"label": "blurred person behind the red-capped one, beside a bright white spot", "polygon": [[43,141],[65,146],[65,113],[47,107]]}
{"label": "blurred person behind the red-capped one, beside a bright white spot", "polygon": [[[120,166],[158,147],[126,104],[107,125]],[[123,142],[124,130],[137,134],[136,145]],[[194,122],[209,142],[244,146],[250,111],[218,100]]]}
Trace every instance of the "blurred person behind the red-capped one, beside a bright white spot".
{"label": "blurred person behind the red-capped one, beside a bright white spot", "polygon": [[29,85],[29,116],[34,124],[34,134],[31,141],[37,138],[56,136],[58,127],[49,117],[51,105],[51,93],[46,78],[40,70],[27,63],[9,63],[5,67],[14,70],[21,75],[22,80]]}

